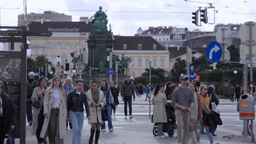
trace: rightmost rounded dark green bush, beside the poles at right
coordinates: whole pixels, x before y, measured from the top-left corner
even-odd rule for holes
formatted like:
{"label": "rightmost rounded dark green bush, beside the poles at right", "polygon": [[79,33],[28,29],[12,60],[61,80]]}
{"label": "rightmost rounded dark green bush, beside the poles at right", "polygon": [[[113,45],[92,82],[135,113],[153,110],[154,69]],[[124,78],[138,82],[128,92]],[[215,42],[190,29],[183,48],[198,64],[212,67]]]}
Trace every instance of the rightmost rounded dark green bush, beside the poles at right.
{"label": "rightmost rounded dark green bush, beside the poles at right", "polygon": [[[235,77],[234,70],[237,70],[237,74]],[[243,81],[243,69],[242,68],[232,68],[229,70],[224,71],[224,77],[230,77],[233,78],[234,81],[231,81],[231,83],[235,86],[235,83],[238,85],[241,85]],[[236,82],[235,82],[236,81]]]}

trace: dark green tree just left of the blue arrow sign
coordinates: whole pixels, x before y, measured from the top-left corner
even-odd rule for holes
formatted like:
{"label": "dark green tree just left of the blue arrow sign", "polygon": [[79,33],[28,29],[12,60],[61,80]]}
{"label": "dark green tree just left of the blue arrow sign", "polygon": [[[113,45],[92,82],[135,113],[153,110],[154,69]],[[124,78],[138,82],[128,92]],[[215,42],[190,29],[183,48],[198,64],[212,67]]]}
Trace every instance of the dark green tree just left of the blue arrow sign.
{"label": "dark green tree just left of the blue arrow sign", "polygon": [[192,64],[194,66],[195,72],[205,71],[205,70],[212,70],[212,63],[209,62],[205,55],[193,60]]}

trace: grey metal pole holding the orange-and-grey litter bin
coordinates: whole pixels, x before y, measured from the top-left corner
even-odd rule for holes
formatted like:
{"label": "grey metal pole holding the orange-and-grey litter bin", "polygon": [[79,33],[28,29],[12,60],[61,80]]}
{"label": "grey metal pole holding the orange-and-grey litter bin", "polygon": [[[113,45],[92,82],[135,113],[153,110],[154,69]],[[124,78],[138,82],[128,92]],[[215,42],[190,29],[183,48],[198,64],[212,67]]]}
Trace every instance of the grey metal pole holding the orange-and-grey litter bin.
{"label": "grey metal pole holding the orange-and-grey litter bin", "polygon": [[[253,23],[252,22],[249,23],[249,27],[250,27],[250,87],[251,87],[250,95],[253,97],[253,61],[252,61],[253,59],[253,41],[252,41]],[[245,91],[245,89],[243,91]],[[253,120],[251,120],[251,142],[254,142]]]}

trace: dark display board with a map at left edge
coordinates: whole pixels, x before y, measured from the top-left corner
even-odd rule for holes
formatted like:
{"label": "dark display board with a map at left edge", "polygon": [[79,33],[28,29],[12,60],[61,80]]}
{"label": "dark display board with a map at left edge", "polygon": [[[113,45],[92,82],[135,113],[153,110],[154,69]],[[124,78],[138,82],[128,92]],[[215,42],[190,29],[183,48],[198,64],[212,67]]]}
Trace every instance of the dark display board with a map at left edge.
{"label": "dark display board with a map at left edge", "polygon": [[21,57],[19,52],[0,51],[0,80],[14,106],[16,128],[13,137],[20,137],[20,99],[21,99]]}

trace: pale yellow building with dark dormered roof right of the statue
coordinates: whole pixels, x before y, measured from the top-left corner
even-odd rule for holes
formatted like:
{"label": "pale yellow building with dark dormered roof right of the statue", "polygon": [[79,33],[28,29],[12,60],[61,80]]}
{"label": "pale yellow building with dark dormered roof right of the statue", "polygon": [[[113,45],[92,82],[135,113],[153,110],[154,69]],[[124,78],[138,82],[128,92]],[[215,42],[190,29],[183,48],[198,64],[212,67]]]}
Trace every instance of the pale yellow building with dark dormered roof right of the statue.
{"label": "pale yellow building with dark dormered roof right of the statue", "polygon": [[146,68],[169,70],[169,52],[152,37],[114,36],[114,55],[131,57],[129,73],[133,77],[141,76]]}

